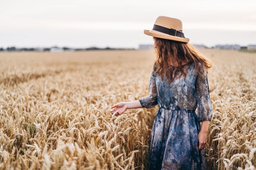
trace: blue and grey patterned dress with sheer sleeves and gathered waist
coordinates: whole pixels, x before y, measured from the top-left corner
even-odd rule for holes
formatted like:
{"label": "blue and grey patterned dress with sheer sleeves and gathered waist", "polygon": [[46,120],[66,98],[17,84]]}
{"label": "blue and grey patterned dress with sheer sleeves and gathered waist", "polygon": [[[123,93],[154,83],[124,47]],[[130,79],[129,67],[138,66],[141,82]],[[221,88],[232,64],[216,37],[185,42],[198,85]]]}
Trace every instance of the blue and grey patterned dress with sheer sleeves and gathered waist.
{"label": "blue and grey patterned dress with sheer sleeves and gathered waist", "polygon": [[[139,97],[145,108],[159,105],[150,136],[149,170],[206,170],[205,149],[198,150],[200,121],[211,120],[212,106],[208,71],[199,66],[205,78],[195,71],[195,64],[183,65],[186,73],[177,72],[170,85],[154,73],[148,96]],[[198,108],[198,113],[195,109]]]}

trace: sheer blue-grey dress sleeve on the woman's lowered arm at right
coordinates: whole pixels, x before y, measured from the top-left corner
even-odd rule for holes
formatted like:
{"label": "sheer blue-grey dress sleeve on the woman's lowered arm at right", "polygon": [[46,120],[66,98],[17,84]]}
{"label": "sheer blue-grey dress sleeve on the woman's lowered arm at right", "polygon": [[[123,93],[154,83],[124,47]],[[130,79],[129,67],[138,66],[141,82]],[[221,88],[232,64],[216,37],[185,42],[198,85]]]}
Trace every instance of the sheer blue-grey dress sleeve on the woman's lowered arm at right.
{"label": "sheer blue-grey dress sleeve on the woman's lowered arm at right", "polygon": [[198,114],[197,114],[198,121],[211,120],[213,115],[211,99],[209,94],[207,69],[202,67],[202,73],[205,75],[205,77],[202,78],[200,75],[197,75],[197,79],[195,83],[197,108],[198,108]]}

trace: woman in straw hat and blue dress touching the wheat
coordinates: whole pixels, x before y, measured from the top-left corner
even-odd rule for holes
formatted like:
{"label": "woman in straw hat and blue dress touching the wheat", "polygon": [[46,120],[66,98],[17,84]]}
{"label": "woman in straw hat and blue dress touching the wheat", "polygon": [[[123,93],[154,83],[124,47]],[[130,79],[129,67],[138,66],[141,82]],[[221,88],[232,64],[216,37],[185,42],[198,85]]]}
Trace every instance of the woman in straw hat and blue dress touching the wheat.
{"label": "woman in straw hat and blue dress touching the wheat", "polygon": [[[150,136],[150,170],[205,170],[205,144],[212,106],[207,69],[211,62],[197,53],[177,18],[159,16],[153,30],[157,58],[148,96],[113,105],[110,112],[159,105]],[[198,113],[195,109],[198,108]],[[202,124],[200,124],[202,122]]]}

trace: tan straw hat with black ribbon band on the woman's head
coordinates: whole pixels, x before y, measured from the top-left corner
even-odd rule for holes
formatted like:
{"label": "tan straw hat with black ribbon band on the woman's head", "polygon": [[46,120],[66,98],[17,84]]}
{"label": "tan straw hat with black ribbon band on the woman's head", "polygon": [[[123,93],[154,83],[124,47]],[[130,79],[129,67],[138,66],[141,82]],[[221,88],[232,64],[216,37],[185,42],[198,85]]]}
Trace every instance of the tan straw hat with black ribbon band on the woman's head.
{"label": "tan straw hat with black ribbon band on the woman's head", "polygon": [[182,32],[182,22],[177,18],[159,16],[155,21],[152,30],[144,30],[144,34],[157,38],[189,42],[189,38],[184,37]]}

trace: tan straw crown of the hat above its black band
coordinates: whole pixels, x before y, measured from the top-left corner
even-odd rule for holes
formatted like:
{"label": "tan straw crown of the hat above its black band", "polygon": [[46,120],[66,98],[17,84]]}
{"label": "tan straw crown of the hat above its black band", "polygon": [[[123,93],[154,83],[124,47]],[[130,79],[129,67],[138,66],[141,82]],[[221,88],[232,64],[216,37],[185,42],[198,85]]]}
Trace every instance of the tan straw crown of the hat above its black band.
{"label": "tan straw crown of the hat above its black band", "polygon": [[167,16],[159,16],[155,21],[156,25],[164,26],[168,29],[177,29],[182,31],[182,22],[177,18]]}

